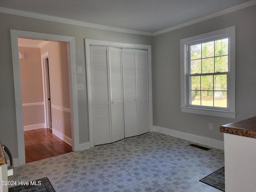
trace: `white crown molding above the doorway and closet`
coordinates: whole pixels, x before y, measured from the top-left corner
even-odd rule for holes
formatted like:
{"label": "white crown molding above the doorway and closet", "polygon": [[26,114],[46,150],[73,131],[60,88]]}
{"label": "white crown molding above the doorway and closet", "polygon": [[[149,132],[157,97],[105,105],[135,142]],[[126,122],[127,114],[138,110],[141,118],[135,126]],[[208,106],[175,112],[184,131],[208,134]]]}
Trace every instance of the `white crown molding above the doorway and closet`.
{"label": "white crown molding above the doorway and closet", "polygon": [[123,33],[153,36],[152,32],[124,29],[124,28],[117,28],[117,27],[110,27],[110,26],[105,26],[105,25],[87,23],[87,22],[82,22],[82,21],[76,21],[76,20],[65,19],[65,18],[60,18],[60,17],[48,16],[48,15],[43,15],[43,14],[38,14],[38,13],[15,10],[15,9],[9,9],[9,8],[4,8],[4,7],[0,7],[0,12],[6,13],[6,14],[24,16],[24,17],[42,19],[42,20],[47,20],[47,21],[59,22],[59,23],[78,25],[78,26],[90,27],[90,28],[96,28],[96,29],[102,29],[102,30],[109,30],[109,31],[116,31],[116,32],[123,32]]}

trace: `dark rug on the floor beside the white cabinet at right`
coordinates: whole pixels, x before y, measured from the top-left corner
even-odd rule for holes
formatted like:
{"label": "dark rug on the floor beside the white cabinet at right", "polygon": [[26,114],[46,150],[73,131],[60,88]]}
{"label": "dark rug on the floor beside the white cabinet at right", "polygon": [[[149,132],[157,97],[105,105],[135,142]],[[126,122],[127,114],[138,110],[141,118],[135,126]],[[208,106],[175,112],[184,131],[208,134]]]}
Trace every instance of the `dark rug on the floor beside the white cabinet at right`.
{"label": "dark rug on the floor beside the white cabinet at right", "polygon": [[225,191],[225,167],[222,167],[205,178],[202,178],[200,181],[219,190]]}

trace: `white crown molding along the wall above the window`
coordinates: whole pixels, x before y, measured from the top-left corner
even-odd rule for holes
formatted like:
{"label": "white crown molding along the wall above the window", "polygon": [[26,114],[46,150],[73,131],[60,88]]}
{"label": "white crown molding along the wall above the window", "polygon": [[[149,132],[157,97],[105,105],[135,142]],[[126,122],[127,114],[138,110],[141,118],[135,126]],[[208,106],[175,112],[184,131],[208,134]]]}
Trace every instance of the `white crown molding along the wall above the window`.
{"label": "white crown molding along the wall above the window", "polygon": [[199,23],[199,22],[202,22],[202,21],[214,18],[214,17],[218,17],[218,16],[221,16],[221,15],[233,12],[233,11],[237,11],[237,10],[240,10],[240,9],[243,9],[243,8],[246,8],[246,7],[253,6],[255,4],[256,4],[256,0],[251,0],[251,1],[239,4],[239,5],[236,5],[236,6],[233,6],[233,7],[230,7],[230,8],[212,13],[212,14],[207,15],[207,16],[203,16],[203,17],[200,17],[200,18],[197,18],[197,19],[194,19],[194,20],[191,20],[191,21],[188,21],[188,22],[185,22],[185,23],[167,28],[167,29],[163,29],[163,30],[154,32],[153,36],[160,35],[160,34],[163,34],[163,33],[166,33],[166,32],[170,32],[170,31],[182,28],[182,27],[192,25],[192,24],[196,24],[196,23]]}

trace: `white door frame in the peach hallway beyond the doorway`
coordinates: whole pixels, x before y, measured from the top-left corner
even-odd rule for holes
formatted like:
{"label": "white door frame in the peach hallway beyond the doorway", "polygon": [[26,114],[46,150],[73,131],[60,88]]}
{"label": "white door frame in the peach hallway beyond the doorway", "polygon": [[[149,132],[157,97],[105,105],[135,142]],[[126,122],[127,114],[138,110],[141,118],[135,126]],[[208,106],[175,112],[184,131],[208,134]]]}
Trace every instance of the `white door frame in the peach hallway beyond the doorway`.
{"label": "white door frame in the peach hallway beyond the doorway", "polygon": [[[46,70],[46,58],[48,58],[48,71]],[[49,52],[45,52],[41,55],[41,62],[42,62],[42,78],[43,78],[43,95],[44,95],[44,128],[51,128],[52,122],[50,121],[50,116],[52,115],[52,112],[50,113],[51,106],[49,105],[48,98],[52,98],[51,91],[50,90],[50,66],[49,66]],[[49,79],[49,82],[48,82]],[[51,118],[52,119],[52,118]]]}

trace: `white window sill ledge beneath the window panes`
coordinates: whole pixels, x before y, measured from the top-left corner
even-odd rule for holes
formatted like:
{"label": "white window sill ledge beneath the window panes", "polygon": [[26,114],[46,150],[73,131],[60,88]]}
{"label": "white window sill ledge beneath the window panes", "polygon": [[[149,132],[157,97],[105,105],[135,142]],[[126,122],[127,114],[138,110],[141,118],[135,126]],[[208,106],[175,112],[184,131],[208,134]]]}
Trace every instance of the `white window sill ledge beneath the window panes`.
{"label": "white window sill ledge beneath the window panes", "polygon": [[214,110],[214,109],[201,109],[201,108],[194,108],[194,107],[180,107],[181,112],[185,113],[194,113],[200,115],[209,115],[209,116],[216,116],[216,117],[225,117],[225,118],[236,118],[236,112],[224,111],[224,110]]}

